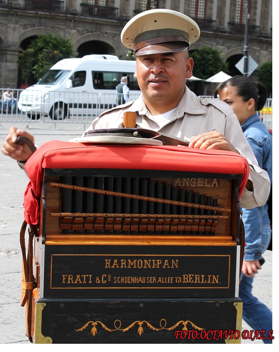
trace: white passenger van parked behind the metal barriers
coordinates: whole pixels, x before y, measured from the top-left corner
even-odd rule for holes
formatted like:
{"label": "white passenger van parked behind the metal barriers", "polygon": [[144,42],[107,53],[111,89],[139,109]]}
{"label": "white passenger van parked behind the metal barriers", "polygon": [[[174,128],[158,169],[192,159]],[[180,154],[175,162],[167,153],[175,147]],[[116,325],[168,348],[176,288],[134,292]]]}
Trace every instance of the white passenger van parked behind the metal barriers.
{"label": "white passenger van parked behind the metal barriers", "polygon": [[36,84],[23,90],[18,108],[30,119],[96,116],[116,106],[115,87],[122,76],[128,77],[129,100],[138,98],[140,89],[135,70],[135,61],[120,60],[114,55],[63,59]]}

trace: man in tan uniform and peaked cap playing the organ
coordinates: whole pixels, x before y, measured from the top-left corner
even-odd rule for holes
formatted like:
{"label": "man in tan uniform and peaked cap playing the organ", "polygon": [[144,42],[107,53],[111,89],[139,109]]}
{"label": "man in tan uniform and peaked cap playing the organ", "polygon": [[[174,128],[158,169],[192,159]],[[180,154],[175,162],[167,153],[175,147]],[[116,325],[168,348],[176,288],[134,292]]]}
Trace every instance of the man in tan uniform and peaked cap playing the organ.
{"label": "man in tan uniform and peaked cap playing the organ", "polygon": [[[269,177],[259,168],[231,107],[218,99],[198,98],[186,87],[194,65],[193,59],[188,57],[188,48],[199,35],[195,21],[172,10],[148,10],[129,20],[122,30],[121,40],[127,48],[134,49],[137,57],[134,76],[142,94],[135,101],[99,115],[88,130],[118,128],[123,122],[123,113],[131,111],[137,114],[137,127],[182,139],[191,138],[191,148],[240,153],[247,158],[250,170],[241,206],[261,206],[269,194]],[[34,142],[29,133],[12,127],[2,152],[26,162],[31,152],[26,145],[14,143],[19,135]]]}

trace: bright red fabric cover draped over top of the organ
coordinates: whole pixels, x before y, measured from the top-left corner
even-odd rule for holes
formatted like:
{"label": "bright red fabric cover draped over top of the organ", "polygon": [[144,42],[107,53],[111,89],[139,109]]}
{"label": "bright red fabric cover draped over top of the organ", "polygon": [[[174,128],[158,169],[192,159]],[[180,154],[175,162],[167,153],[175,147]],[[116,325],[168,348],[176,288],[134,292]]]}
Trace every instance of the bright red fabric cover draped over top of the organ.
{"label": "bright red fabric cover draped over top of the organ", "polygon": [[241,155],[223,150],[183,146],[127,144],[89,145],[52,140],[29,158],[25,170],[30,182],[24,193],[24,219],[33,226],[40,220],[44,169],[138,169],[212,172],[242,175],[241,196],[249,165]]}

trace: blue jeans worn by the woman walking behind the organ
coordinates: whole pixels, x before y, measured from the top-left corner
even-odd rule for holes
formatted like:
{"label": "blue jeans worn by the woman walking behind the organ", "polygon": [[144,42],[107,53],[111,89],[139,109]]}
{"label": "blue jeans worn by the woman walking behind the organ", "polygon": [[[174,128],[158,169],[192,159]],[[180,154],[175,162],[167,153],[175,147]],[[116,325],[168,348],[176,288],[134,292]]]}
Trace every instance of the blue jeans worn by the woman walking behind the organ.
{"label": "blue jeans worn by the woman walking behind the organ", "polygon": [[[262,236],[262,246],[264,250],[267,248],[270,241],[271,233],[266,233]],[[255,296],[252,295],[253,277],[246,277],[241,273],[241,281],[239,284],[239,298],[243,302],[243,320],[254,330],[265,330],[265,339],[262,340],[265,344],[272,344],[269,331],[272,330],[272,311]]]}

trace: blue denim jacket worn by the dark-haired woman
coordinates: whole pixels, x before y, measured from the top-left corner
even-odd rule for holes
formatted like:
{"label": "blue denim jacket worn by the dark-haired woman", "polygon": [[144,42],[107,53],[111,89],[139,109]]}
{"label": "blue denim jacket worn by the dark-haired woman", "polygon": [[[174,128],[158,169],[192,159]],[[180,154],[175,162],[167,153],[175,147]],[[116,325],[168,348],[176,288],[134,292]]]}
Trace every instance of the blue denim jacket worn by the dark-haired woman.
{"label": "blue denim jacket worn by the dark-haired woman", "polygon": [[[272,137],[260,118],[255,114],[249,117],[241,126],[245,138],[250,144],[260,168],[267,171],[272,182]],[[241,208],[245,227],[244,260],[262,258],[270,238],[271,226],[265,204],[253,209]]]}

